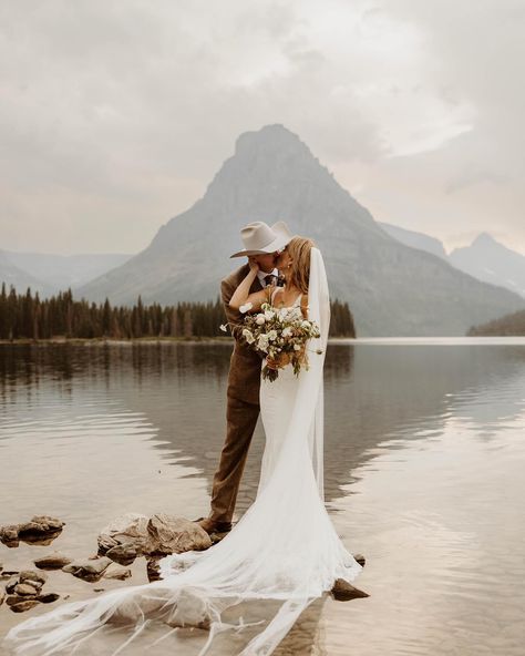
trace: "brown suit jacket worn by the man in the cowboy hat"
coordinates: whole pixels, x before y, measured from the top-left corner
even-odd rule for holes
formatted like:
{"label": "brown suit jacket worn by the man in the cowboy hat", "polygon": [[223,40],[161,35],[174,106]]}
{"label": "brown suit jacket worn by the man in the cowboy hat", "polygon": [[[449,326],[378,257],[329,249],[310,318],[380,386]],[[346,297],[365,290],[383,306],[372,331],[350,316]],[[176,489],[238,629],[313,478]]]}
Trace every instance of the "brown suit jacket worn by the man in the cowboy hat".
{"label": "brown suit jacket worn by the man in the cowboy hat", "polygon": [[[229,363],[228,397],[240,399],[247,403],[259,404],[260,368],[262,357],[253,348],[241,341],[244,315],[229,307],[229,299],[234,291],[246,278],[249,265],[245,264],[220,283],[220,295],[223,297],[226,318],[235,338],[234,351]],[[250,294],[262,289],[259,279],[256,277],[250,287]]]}

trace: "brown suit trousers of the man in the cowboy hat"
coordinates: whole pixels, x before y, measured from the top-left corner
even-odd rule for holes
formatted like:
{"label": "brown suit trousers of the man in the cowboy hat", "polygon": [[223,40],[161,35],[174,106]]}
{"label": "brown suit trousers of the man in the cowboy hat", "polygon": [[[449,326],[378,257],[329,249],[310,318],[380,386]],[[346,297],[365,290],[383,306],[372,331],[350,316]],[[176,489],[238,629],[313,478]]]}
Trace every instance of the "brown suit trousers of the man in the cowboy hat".
{"label": "brown suit trousers of the man in the cowboy hat", "polygon": [[234,516],[240,479],[258,417],[258,403],[248,403],[228,396],[226,440],[212,491],[209,516],[214,521],[230,522]]}

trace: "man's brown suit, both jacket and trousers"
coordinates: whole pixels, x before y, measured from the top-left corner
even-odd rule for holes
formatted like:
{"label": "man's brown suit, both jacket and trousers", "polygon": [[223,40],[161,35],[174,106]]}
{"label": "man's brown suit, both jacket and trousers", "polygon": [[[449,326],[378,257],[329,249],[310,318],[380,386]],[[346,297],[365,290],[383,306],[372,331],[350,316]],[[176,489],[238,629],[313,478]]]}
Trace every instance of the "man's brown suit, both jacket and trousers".
{"label": "man's brown suit, both jacket and trousers", "polygon": [[[228,373],[226,440],[212,492],[209,516],[217,522],[231,521],[251,435],[259,417],[261,357],[240,340],[244,315],[229,307],[229,299],[248,271],[249,266],[246,264],[220,283],[223,304],[235,346]],[[256,277],[250,294],[260,289],[262,287]]]}

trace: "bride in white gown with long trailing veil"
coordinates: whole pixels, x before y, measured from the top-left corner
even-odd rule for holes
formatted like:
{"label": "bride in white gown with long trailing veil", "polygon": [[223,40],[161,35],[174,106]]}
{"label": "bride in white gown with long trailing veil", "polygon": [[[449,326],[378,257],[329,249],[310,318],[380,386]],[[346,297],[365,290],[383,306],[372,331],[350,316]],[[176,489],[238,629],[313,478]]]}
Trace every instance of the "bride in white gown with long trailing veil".
{"label": "bride in white gown with long trailing veil", "polygon": [[[298,376],[286,361],[262,363],[279,368],[279,376],[261,379],[266,447],[254,504],[208,551],[162,558],[159,581],[65,604],[14,626],[6,637],[12,653],[116,655],[134,643],[126,653],[267,656],[307,606],[337,580],[350,582],[360,573],[323,503],[330,305],[322,256],[310,239],[294,237],[277,266],[286,285],[272,288],[270,300],[316,321],[320,337],[310,339],[309,368]],[[251,263],[231,297],[234,307],[250,303],[256,311],[268,299],[267,289],[248,295],[256,273]],[[141,649],[133,652],[137,643]]]}

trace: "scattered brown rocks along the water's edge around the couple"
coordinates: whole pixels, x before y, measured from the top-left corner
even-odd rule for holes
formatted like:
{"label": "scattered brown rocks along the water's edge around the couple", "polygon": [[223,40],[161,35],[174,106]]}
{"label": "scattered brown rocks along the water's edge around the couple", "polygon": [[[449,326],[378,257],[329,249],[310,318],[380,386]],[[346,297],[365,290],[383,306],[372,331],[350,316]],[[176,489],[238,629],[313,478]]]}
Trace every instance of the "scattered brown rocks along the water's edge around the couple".
{"label": "scattered brown rocks along the water's edge around the couple", "polygon": [[[56,517],[35,515],[29,522],[0,526],[0,542],[8,549],[18,547],[20,542],[40,547],[50,545],[61,535],[64,525]],[[172,553],[204,551],[224,535],[208,535],[199,524],[184,517],[163,513],[151,517],[127,513],[113,520],[100,532],[94,555],[73,560],[59,551],[52,551],[32,561],[35,568],[21,571],[3,570],[0,562],[0,581],[6,582],[4,590],[0,588],[0,606],[6,602],[6,607],[13,613],[24,613],[40,604],[68,599],[70,595],[43,592],[48,582],[44,571],[61,570],[89,583],[100,583],[103,580],[124,581],[132,576],[128,565],[143,557],[147,580],[158,581],[161,558]],[[354,557],[364,565],[364,556],[358,554]],[[93,587],[93,592],[104,590]],[[368,596],[342,580],[336,582],[332,595],[339,601]]]}

